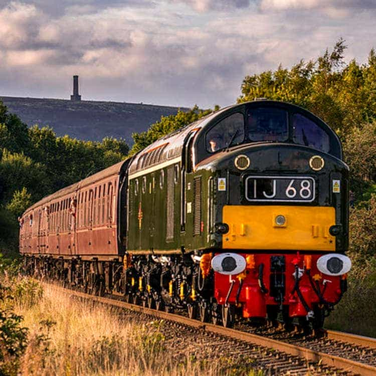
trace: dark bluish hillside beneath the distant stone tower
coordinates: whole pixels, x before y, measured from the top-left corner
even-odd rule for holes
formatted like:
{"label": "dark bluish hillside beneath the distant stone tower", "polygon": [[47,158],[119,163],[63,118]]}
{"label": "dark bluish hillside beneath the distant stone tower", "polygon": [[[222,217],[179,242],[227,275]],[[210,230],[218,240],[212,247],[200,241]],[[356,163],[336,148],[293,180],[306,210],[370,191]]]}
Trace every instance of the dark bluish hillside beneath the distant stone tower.
{"label": "dark bluish hillside beneath the distant stone tower", "polygon": [[82,140],[122,137],[130,144],[133,143],[133,132],[145,131],[161,116],[176,114],[178,110],[177,107],[138,103],[20,97],[0,99],[9,112],[18,115],[29,126],[49,125],[58,136],[68,134]]}

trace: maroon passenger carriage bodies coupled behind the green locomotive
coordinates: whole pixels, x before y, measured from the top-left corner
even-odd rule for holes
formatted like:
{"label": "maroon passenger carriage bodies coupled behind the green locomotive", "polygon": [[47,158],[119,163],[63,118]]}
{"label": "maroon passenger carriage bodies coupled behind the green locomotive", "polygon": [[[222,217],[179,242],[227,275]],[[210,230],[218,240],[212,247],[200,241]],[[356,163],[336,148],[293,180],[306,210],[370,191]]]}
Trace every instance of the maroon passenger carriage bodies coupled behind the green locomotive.
{"label": "maroon passenger carriage bodies coupled behind the green locomotive", "polygon": [[58,258],[122,256],[127,165],[119,162],[30,207],[20,223],[20,252]]}

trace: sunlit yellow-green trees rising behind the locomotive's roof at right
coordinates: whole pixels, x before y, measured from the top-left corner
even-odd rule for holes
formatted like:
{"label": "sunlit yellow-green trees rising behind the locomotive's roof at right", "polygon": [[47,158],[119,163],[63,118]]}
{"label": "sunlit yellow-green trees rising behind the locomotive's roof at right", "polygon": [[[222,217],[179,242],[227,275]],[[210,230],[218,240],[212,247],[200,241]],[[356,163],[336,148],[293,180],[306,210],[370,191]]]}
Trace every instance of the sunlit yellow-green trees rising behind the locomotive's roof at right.
{"label": "sunlit yellow-green trees rising behind the locomotive's roof at right", "polygon": [[274,72],[246,76],[238,102],[266,97],[302,106],[321,117],[339,136],[376,118],[376,54],[368,62],[345,64],[345,41],[339,39],[332,51],[316,61],[300,60],[290,70],[279,66]]}

